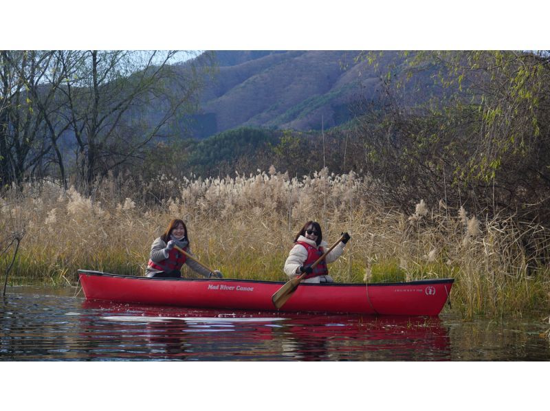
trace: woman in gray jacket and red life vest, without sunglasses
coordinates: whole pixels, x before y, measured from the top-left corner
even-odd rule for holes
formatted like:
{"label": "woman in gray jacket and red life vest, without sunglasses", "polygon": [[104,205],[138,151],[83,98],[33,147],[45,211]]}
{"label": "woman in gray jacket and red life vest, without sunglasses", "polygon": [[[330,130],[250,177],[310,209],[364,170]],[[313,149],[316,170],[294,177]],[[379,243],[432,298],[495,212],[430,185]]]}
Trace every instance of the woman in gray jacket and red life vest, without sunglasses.
{"label": "woman in gray jacket and red life vest, without sunglasses", "polygon": [[168,228],[153,241],[151,245],[151,254],[147,264],[146,276],[155,278],[181,278],[181,267],[187,264],[190,269],[206,278],[223,278],[221,272],[214,270],[210,272],[199,263],[187,258],[177,247],[183,249],[187,254],[193,255],[189,248],[189,239],[187,237],[187,227],[183,220],[173,219],[168,224]]}

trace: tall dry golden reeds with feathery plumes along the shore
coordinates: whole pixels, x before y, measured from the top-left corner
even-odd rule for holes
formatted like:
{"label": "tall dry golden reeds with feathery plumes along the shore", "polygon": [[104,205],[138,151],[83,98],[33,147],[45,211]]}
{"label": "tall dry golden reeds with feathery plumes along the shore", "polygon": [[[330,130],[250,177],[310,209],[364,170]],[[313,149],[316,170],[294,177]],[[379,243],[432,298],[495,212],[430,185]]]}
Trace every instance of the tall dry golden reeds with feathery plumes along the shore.
{"label": "tall dry golden reeds with feathery plumes along the shore", "polygon": [[[273,166],[225,178],[159,175],[148,183],[111,175],[96,181],[89,197],[52,181],[25,184],[0,198],[1,232],[21,237],[8,284],[74,286],[77,269],[144,275],[153,239],[175,217],[186,221],[197,258],[226,278],[285,281],[292,239],[314,219],[328,243],[343,231],[352,236],[329,267],[337,282],[454,278],[451,310],[465,318],[547,315],[550,233],[543,226],[444,198],[417,199],[406,214],[383,207],[370,185],[355,173],[324,168],[289,178]],[[2,281],[13,256],[8,237],[1,238]]]}

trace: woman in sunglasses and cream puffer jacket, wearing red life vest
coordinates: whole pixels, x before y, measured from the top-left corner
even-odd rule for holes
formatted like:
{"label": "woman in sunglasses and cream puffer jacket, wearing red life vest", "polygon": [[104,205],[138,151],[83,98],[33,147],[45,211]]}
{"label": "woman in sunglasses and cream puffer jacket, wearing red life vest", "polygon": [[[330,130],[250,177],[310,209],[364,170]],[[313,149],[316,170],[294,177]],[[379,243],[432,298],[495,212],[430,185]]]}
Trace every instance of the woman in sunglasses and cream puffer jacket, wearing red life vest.
{"label": "woman in sunglasses and cream puffer jacket, wearing red life vest", "polygon": [[325,253],[328,245],[322,241],[321,226],[316,221],[308,221],[302,227],[302,230],[294,238],[294,247],[290,250],[289,256],[285,262],[285,274],[289,278],[300,276],[305,273],[305,279],[302,282],[334,282],[329,276],[327,263],[332,263],[344,252],[344,247],[348,242],[348,233],[343,233],[344,239],[338,243],[334,249],[327,254],[325,260],[322,260],[316,267],[311,265]]}

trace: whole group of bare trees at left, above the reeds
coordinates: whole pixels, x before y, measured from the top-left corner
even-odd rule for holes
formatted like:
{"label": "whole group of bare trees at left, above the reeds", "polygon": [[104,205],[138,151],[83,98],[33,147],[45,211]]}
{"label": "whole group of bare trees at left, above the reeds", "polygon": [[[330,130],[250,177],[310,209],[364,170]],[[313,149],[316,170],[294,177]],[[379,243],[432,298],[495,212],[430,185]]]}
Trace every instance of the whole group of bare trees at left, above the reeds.
{"label": "whole group of bare trees at left, above the reeds", "polygon": [[[191,52],[188,56],[195,55]],[[180,136],[210,70],[184,52],[0,52],[0,182],[67,168],[90,190],[96,177],[146,158]],[[71,151],[74,155],[71,155]]]}

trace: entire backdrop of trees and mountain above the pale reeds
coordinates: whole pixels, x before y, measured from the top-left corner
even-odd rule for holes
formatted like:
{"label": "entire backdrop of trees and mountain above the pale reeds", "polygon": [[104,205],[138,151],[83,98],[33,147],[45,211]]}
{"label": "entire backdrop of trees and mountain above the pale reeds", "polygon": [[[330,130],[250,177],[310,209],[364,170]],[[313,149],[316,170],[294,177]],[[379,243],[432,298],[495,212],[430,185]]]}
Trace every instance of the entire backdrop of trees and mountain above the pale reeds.
{"label": "entire backdrop of trees and mountain above the pale reeds", "polygon": [[[388,206],[550,220],[547,53],[221,52],[217,71],[215,54],[142,57],[2,52],[2,185],[327,167],[368,176]],[[195,139],[182,124],[197,113],[228,130]]]}

